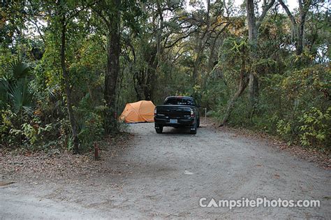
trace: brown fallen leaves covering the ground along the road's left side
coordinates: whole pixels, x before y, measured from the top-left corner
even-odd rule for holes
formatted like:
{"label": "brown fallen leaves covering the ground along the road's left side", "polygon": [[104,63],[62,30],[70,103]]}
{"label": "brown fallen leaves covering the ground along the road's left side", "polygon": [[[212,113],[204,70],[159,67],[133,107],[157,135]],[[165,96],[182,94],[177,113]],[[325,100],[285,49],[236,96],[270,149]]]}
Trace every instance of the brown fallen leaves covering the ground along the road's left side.
{"label": "brown fallen leaves covering the ground along the road's left side", "polygon": [[22,179],[38,184],[43,179],[72,180],[96,175],[122,175],[122,171],[109,167],[105,162],[122,152],[129,139],[126,134],[101,142],[101,159],[98,161],[94,160],[92,150],[85,154],[61,152],[59,149],[18,155],[0,152],[0,179]]}

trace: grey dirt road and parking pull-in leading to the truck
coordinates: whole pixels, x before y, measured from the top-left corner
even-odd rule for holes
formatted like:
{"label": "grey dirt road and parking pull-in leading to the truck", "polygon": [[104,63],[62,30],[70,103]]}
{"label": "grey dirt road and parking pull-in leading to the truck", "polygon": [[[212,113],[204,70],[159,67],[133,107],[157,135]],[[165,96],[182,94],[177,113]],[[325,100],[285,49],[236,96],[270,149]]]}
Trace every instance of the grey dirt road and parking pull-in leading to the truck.
{"label": "grey dirt road and parking pull-in leading to the truck", "polygon": [[[112,172],[0,186],[0,217],[331,219],[330,170],[230,131],[164,130],[130,125],[133,140],[103,161]],[[200,207],[203,197],[321,200],[321,207],[229,210]]]}

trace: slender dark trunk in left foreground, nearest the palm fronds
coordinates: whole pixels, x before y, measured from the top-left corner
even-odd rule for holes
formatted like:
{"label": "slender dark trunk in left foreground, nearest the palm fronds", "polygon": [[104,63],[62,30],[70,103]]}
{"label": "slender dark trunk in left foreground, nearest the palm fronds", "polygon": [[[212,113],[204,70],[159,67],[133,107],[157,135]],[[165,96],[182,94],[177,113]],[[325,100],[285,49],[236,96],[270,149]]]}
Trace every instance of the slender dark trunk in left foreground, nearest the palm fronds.
{"label": "slender dark trunk in left foreground, nearest the palm fronds", "polygon": [[71,124],[71,131],[73,133],[73,150],[75,153],[80,151],[80,141],[78,139],[78,129],[75,122],[75,115],[73,114],[73,105],[71,101],[70,78],[66,71],[66,17],[62,17],[62,30],[61,30],[61,69],[62,77],[64,78],[64,88],[66,91],[66,105],[68,108],[68,117]]}

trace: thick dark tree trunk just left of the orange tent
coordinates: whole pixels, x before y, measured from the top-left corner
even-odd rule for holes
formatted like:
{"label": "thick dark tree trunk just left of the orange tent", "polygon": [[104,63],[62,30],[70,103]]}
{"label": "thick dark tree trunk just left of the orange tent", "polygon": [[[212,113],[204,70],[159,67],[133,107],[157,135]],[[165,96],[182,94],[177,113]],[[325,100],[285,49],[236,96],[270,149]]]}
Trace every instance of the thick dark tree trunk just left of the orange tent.
{"label": "thick dark tree trunk just left of the orange tent", "polygon": [[107,53],[107,70],[105,73],[105,103],[108,111],[105,114],[105,131],[109,133],[115,126],[116,113],[116,85],[119,75],[119,55],[120,47],[120,0],[112,0],[113,12],[109,17],[109,34],[108,34],[108,53]]}

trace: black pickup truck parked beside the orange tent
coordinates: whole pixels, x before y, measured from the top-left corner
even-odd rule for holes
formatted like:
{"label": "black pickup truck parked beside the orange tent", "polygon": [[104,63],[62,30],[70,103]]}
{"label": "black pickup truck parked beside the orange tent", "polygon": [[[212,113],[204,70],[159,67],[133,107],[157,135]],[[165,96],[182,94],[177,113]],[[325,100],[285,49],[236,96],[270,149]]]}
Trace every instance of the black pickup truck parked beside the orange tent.
{"label": "black pickup truck parked beside the orange tent", "polygon": [[194,99],[188,96],[169,96],[163,105],[156,105],[154,122],[156,133],[162,133],[164,126],[190,127],[190,132],[196,134],[200,126],[200,116]]}

